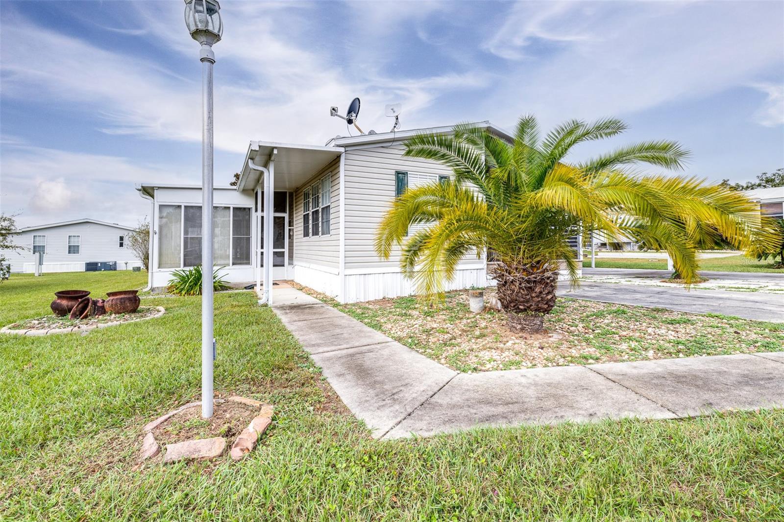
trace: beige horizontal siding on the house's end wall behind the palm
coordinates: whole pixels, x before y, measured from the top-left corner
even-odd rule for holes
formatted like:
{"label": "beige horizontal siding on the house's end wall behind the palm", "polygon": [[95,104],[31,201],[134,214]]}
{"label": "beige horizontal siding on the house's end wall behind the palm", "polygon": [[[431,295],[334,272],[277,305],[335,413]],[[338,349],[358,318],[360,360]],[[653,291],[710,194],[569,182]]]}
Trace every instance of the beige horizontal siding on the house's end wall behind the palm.
{"label": "beige horizontal siding on the house's end wall behind the palm", "polygon": [[[405,158],[401,144],[347,150],[345,154],[346,269],[380,270],[400,266],[400,249],[394,248],[386,261],[376,256],[376,230],[395,198],[395,172],[408,172],[408,187],[437,182],[438,176],[451,176],[452,170],[435,161]],[[414,227],[412,227],[414,230]],[[463,263],[481,264],[476,256]]]}

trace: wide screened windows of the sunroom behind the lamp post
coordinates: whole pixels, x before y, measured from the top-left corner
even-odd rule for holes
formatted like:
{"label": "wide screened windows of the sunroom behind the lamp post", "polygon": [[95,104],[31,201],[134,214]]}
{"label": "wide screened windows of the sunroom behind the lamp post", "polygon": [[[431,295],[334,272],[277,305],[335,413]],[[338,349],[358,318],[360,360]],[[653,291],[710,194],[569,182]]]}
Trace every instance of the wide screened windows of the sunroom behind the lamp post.
{"label": "wide screened windows of the sunroom behind the lamp post", "polygon": [[[212,207],[212,263],[249,265],[250,207]],[[201,206],[158,207],[158,267],[201,264]]]}

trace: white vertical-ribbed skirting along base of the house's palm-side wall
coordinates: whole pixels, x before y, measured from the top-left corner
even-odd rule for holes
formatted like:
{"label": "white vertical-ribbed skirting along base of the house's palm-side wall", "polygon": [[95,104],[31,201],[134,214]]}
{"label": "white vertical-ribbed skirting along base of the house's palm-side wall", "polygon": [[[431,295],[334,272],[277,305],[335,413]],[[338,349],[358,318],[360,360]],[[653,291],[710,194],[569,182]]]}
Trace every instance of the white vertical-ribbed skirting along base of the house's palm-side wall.
{"label": "white vertical-ribbed skirting along base of the house's palm-side wall", "polygon": [[[447,290],[461,290],[463,288],[484,288],[495,281],[488,281],[484,268],[469,270],[456,270],[455,277],[446,284]],[[358,301],[372,301],[385,297],[400,297],[401,295],[416,294],[416,285],[403,277],[400,272],[386,274],[350,274],[346,276],[346,299],[343,303],[356,303]]]}

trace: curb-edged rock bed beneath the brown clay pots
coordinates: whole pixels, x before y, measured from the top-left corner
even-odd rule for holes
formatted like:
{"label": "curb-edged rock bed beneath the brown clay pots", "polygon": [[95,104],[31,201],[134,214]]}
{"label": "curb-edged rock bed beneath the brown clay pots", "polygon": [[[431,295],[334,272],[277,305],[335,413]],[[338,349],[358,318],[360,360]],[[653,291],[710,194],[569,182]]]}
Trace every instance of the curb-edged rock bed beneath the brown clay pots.
{"label": "curb-edged rock bed beneath the brown clay pots", "polygon": [[46,315],[8,324],[0,328],[0,332],[16,335],[50,335],[69,332],[89,332],[95,328],[105,328],[116,324],[143,321],[161,317],[165,313],[162,306],[140,306],[132,314],[105,314],[86,317],[85,319],[69,319],[67,316]]}

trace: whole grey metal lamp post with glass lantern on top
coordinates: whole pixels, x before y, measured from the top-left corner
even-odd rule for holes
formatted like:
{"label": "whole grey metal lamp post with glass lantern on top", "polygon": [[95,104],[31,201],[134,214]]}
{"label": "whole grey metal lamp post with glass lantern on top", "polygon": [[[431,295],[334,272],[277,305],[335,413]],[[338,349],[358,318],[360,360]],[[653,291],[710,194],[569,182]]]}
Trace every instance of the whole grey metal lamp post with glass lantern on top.
{"label": "whole grey metal lamp post with glass lantern on top", "polygon": [[201,416],[212,417],[212,45],[223,23],[216,0],[185,0],[185,25],[201,44]]}

